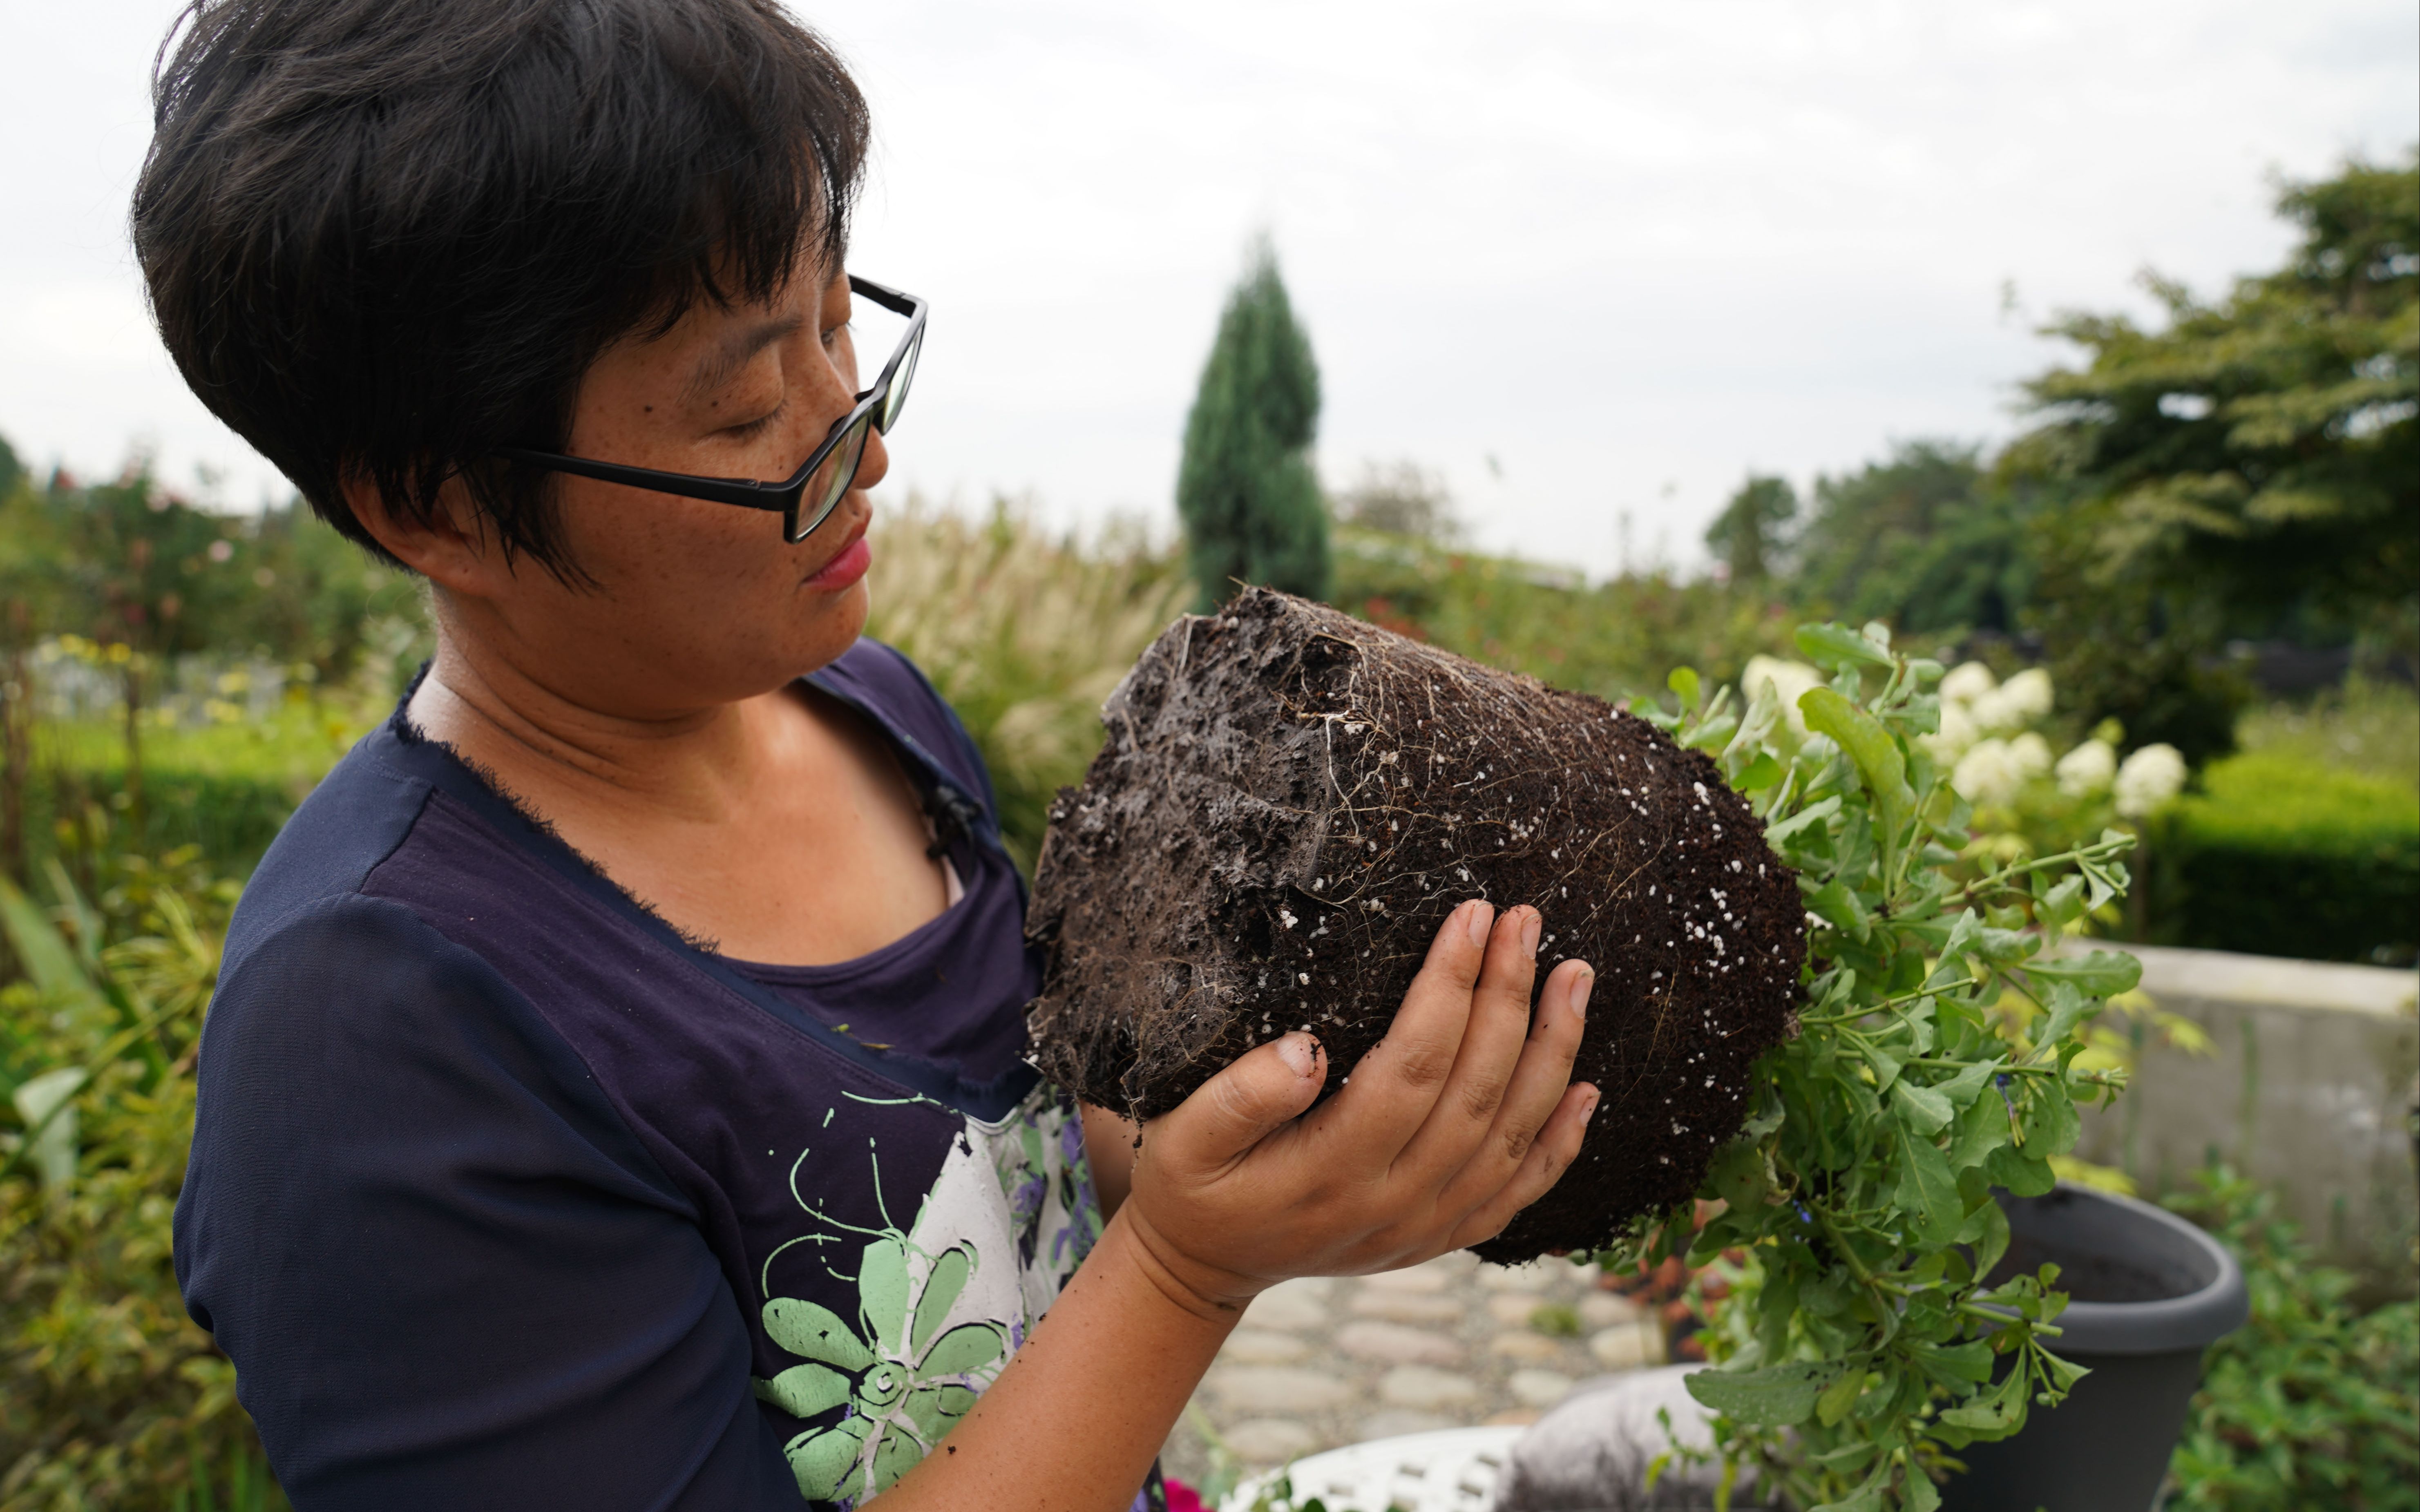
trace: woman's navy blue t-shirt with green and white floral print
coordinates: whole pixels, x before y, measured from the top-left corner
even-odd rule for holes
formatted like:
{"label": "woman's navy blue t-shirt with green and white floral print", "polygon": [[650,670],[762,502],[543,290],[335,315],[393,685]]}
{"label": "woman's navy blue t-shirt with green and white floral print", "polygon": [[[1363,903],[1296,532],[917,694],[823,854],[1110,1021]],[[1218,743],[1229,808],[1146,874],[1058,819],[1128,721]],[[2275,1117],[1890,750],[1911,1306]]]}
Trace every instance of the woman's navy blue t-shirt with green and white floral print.
{"label": "woman's navy blue t-shirt with green and white floral print", "polygon": [[888,646],[811,682],[963,885],[859,960],[685,941],[402,711],[244,888],[177,1277],[302,1512],[852,1507],[1091,1248],[983,760]]}

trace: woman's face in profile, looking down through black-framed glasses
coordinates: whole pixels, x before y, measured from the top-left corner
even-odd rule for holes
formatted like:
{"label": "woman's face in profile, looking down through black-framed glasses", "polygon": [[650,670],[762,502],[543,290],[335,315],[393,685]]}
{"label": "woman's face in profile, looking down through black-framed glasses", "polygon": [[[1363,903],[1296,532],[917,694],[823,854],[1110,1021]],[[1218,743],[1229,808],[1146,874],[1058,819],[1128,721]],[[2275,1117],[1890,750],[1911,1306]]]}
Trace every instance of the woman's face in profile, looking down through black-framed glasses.
{"label": "woman's face in profile, looking down through black-framed glasses", "polygon": [[[857,389],[849,281],[803,273],[765,305],[699,300],[663,336],[612,346],[581,382],[566,450],[782,479]],[[600,711],[670,719],[772,692],[864,629],[866,489],[888,464],[869,435],[847,498],[796,544],[774,513],[557,474],[564,549],[588,583],[523,559],[484,600],[477,617],[496,624],[482,631],[506,634],[525,673]]]}

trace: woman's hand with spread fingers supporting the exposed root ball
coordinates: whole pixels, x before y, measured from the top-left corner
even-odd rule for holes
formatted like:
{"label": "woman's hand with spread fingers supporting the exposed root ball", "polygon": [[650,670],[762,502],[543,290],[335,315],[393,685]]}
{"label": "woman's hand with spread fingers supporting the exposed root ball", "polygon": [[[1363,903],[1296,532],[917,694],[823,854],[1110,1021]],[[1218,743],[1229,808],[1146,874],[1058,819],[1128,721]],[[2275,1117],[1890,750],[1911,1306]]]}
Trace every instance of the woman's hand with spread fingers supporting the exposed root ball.
{"label": "woman's hand with spread fingers supporting the exposed root ball", "polygon": [[1580,1152],[1597,1089],[1568,1086],[1595,973],[1546,977],[1539,914],[1464,902],[1387,1038],[1316,1113],[1329,1064],[1290,1033],[1142,1130],[1120,1210],[1179,1302],[1239,1311],[1295,1275],[1416,1265],[1503,1231]]}

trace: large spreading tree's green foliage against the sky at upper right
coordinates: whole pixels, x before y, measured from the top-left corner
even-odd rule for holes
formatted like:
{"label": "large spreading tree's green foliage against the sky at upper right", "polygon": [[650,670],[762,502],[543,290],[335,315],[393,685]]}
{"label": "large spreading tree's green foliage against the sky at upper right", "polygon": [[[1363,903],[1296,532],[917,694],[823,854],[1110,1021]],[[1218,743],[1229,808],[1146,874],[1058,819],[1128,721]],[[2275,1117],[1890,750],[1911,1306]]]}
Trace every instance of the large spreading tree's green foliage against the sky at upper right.
{"label": "large spreading tree's green foliage against the sky at upper right", "polygon": [[2110,573],[2272,610],[2420,583],[2420,152],[2289,186],[2284,269],[2168,324],[2069,314],[2084,368],[2035,377],[2030,448],[2081,484]]}

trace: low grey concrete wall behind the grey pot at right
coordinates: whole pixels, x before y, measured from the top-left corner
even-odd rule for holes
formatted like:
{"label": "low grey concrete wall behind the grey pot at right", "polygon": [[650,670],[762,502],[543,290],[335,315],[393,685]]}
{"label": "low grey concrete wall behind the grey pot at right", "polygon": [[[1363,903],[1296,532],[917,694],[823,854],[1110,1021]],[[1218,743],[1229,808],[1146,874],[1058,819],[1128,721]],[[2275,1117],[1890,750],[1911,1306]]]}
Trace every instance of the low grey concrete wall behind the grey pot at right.
{"label": "low grey concrete wall behind the grey pot at right", "polygon": [[2321,1253],[2389,1292],[2415,1285],[2420,1231],[2420,975],[2229,951],[2122,946],[2161,1009],[2209,1055],[2151,1031],[2115,1108],[2084,1115],[2076,1154],[2144,1195],[2212,1154],[2280,1193]]}

